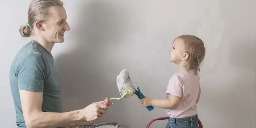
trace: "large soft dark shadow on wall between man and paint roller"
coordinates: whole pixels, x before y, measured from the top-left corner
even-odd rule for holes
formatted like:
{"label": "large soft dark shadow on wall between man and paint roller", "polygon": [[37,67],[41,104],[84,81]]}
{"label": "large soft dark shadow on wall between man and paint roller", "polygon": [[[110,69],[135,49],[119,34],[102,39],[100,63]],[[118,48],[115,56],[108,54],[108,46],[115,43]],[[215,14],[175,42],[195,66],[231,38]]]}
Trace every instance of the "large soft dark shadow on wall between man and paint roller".
{"label": "large soft dark shadow on wall between man and paint roller", "polygon": [[[109,60],[115,60],[115,49],[129,27],[126,19],[122,18],[122,15],[126,16],[124,7],[105,1],[91,1],[81,4],[80,9],[76,27],[71,28],[76,30],[71,35],[74,37],[72,45],[76,47],[72,52],[55,58],[61,80],[63,111],[81,109],[105,97],[116,96],[110,94],[118,92],[116,76],[121,68],[115,65],[118,60]],[[100,122],[117,122],[114,120],[118,118],[117,113],[111,112],[117,108],[118,103],[112,105],[106,114],[108,116]]]}

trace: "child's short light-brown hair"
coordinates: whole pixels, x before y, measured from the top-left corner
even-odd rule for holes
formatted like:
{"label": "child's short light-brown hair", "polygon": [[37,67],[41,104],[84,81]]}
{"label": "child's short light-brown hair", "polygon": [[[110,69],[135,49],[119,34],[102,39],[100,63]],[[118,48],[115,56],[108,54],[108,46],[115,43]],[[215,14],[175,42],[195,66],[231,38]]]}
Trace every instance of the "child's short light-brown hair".
{"label": "child's short light-brown hair", "polygon": [[200,72],[199,66],[204,60],[204,42],[194,35],[181,35],[176,37],[176,39],[182,39],[185,44],[185,52],[188,53],[186,68],[189,70],[193,69],[197,75]]}

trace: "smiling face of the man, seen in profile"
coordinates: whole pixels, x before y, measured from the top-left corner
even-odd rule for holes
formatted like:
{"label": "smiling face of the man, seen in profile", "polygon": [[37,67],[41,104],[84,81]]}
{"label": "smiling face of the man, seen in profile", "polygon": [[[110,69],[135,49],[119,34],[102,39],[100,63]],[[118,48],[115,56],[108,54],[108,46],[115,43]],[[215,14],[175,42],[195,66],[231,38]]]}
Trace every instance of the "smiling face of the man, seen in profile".
{"label": "smiling face of the man, seen in profile", "polygon": [[48,20],[42,24],[44,28],[42,35],[50,43],[64,42],[64,33],[70,30],[65,8],[62,6],[52,6],[48,8],[48,13]]}

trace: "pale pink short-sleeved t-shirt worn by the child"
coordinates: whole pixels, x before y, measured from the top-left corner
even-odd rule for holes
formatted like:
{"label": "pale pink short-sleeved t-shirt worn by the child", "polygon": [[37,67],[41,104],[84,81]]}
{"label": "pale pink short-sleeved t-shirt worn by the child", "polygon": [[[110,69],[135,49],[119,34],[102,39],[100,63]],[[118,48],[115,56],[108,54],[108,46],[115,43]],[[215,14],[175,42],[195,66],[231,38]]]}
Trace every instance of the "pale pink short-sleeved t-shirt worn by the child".
{"label": "pale pink short-sleeved t-shirt worn by the child", "polygon": [[167,86],[166,98],[170,95],[181,97],[176,109],[168,109],[167,115],[172,118],[191,117],[197,114],[196,99],[199,91],[199,76],[193,70],[175,73]]}

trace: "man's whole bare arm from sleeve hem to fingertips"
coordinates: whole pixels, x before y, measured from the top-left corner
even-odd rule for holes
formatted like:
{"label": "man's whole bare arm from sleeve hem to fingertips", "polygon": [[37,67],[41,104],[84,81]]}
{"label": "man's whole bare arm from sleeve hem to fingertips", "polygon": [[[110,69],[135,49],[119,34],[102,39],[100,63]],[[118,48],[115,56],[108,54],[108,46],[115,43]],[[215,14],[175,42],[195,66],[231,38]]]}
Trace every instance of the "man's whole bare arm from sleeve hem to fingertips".
{"label": "man's whole bare arm from sleeve hem to fingertips", "polygon": [[101,104],[98,102],[71,112],[42,112],[43,93],[24,90],[20,90],[20,101],[28,128],[55,128],[76,121],[93,121],[102,117],[108,110],[106,105],[100,109]]}

